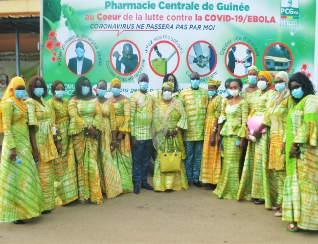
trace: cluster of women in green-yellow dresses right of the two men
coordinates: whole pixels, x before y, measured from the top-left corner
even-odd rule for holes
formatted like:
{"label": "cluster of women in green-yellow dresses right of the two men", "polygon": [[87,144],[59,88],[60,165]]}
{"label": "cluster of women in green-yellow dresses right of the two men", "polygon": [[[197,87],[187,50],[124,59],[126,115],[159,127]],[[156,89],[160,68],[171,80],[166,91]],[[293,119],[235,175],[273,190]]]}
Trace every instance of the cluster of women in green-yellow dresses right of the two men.
{"label": "cluster of women in green-yellow dresses right of the two men", "polygon": [[228,79],[227,97],[211,97],[204,188],[217,184],[213,193],[219,198],[265,203],[290,222],[288,231],[318,230],[318,98],[302,73],[289,79],[278,72],[275,89],[272,82],[270,72],[251,66],[246,89],[240,79]]}

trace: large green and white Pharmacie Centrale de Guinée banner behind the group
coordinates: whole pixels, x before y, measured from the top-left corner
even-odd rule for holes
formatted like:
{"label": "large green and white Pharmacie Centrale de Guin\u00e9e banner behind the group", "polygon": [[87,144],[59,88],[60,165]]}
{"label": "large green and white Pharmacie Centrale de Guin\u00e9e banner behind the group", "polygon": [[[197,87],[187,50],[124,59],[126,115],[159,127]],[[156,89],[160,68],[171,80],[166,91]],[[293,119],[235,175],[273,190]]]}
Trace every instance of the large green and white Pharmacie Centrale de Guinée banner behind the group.
{"label": "large green and white Pharmacie Centrale de Guin\u00e9e banner behind the group", "polygon": [[51,0],[42,14],[43,76],[48,86],[64,81],[68,96],[80,76],[118,78],[127,97],[141,73],[149,91],[166,73],[181,89],[194,71],[204,87],[209,78],[245,81],[250,65],[313,80],[315,0]]}

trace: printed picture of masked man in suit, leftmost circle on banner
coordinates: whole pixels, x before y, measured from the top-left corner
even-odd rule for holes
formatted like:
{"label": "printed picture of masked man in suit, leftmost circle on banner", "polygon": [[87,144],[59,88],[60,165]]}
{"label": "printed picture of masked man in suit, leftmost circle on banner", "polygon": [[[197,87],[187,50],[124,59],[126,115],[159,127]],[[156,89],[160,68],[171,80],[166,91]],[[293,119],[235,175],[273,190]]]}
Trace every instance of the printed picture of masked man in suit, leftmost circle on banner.
{"label": "printed picture of masked man in suit, leftmost circle on banner", "polygon": [[88,73],[93,66],[90,59],[84,57],[85,49],[82,41],[78,41],[75,47],[76,57],[68,60],[68,68],[74,74],[83,75]]}

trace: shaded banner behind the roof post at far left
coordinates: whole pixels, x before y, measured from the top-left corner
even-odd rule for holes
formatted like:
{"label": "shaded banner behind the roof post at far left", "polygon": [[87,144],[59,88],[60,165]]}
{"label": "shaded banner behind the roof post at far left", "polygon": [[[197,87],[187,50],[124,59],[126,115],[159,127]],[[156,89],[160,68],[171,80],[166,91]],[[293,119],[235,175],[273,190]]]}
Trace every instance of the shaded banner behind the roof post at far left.
{"label": "shaded banner behind the roof post at far left", "polygon": [[[20,54],[21,77],[28,84],[30,78],[38,74],[40,67],[40,53]],[[10,80],[15,77],[17,71],[16,53],[0,53],[0,99]]]}

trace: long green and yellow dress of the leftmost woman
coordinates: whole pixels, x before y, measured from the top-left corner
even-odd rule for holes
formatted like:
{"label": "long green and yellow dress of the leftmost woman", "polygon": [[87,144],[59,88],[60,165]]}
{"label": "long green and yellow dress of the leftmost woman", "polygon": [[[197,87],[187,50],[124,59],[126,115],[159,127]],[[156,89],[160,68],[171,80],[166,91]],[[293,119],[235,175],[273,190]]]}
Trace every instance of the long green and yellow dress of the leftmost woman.
{"label": "long green and yellow dress of the leftmost woman", "polygon": [[[4,138],[0,163],[0,222],[30,219],[41,215],[45,203],[32,156],[27,112],[11,98],[1,102]],[[9,159],[15,148],[21,163]]]}

